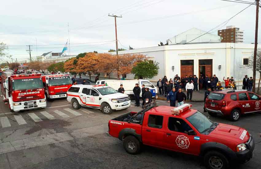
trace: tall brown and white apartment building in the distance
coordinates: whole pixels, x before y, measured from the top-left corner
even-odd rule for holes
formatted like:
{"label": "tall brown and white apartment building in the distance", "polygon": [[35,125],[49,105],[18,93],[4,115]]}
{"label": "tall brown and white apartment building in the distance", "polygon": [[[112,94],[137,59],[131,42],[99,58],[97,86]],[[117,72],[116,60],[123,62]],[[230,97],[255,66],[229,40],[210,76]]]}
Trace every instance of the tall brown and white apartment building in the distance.
{"label": "tall brown and white apartment building in the distance", "polygon": [[243,43],[244,31],[235,26],[227,26],[226,29],[218,30],[218,35],[222,37],[221,42]]}

